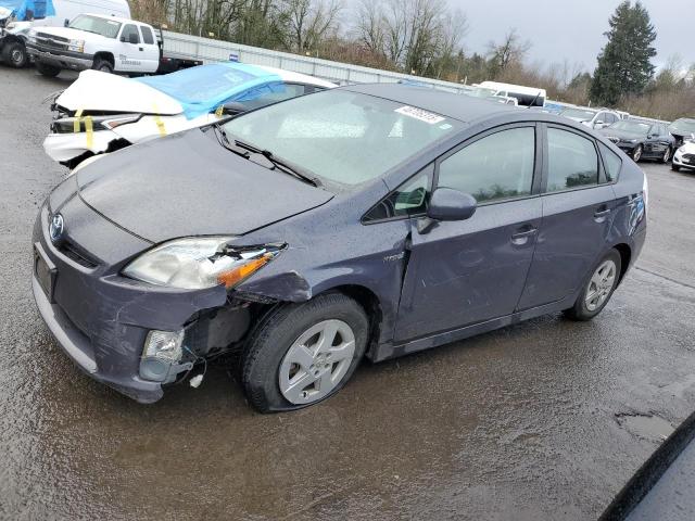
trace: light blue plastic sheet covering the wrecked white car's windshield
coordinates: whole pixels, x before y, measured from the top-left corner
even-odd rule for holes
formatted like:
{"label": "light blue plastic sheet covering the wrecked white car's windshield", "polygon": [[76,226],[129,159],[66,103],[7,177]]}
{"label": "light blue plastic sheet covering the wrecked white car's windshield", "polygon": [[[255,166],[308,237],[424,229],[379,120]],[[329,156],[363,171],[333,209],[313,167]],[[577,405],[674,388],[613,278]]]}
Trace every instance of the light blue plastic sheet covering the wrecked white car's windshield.
{"label": "light blue plastic sheet covering the wrecked white car's windshield", "polygon": [[184,106],[188,119],[229,101],[249,101],[285,90],[280,76],[244,63],[212,63],[135,81],[174,98]]}

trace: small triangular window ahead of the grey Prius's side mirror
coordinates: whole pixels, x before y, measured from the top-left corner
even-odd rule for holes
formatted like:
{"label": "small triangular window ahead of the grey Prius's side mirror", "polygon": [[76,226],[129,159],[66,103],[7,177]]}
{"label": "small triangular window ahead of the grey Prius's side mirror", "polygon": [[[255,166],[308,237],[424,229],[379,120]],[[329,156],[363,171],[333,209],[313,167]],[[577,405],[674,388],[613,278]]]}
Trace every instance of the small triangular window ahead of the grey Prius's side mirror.
{"label": "small triangular window ahead of the grey Prius's side mirror", "polygon": [[427,209],[430,179],[433,171],[433,164],[422,168],[367,212],[363,220],[371,223],[424,214]]}

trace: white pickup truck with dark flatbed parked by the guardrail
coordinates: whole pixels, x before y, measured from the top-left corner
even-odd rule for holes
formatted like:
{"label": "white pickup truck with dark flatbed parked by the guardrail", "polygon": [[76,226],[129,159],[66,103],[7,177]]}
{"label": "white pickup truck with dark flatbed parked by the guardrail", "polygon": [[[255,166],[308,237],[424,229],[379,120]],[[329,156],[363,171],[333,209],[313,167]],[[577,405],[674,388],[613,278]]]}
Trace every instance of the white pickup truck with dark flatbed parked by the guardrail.
{"label": "white pickup truck with dark flatbed parked by the guardrail", "polygon": [[173,72],[202,62],[164,56],[160,30],[142,22],[116,16],[80,14],[67,27],[29,31],[27,51],[45,76],[62,69],[92,68],[130,75]]}

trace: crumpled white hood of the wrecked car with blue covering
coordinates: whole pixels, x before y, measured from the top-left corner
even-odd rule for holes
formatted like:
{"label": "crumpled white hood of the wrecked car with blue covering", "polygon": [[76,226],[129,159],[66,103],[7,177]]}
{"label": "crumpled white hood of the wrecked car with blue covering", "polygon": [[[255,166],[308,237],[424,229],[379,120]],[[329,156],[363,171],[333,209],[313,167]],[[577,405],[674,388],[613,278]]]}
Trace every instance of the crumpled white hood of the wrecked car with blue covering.
{"label": "crumpled white hood of the wrecked car with blue covering", "polygon": [[135,112],[175,115],[184,107],[174,98],[152,87],[115,74],[83,71],[55,103],[68,111]]}

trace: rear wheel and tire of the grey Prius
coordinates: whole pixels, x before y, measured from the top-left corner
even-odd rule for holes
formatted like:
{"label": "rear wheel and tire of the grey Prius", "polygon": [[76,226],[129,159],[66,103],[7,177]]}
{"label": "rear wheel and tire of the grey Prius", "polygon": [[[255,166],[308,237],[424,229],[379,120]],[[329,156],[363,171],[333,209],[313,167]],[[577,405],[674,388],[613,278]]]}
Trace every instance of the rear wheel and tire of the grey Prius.
{"label": "rear wheel and tire of the grey Prius", "polygon": [[[584,282],[584,288],[582,292],[577,297],[574,305],[569,309],[565,309],[565,316],[571,320],[591,320],[596,315],[598,315],[606,304],[610,301],[614,292],[616,291],[616,287],[618,285],[618,281],[620,279],[620,269],[622,265],[622,259],[620,257],[620,253],[617,250],[610,250],[592,269],[591,276],[586,282]],[[609,271],[602,270],[608,267]],[[611,275],[610,275],[611,274]],[[602,277],[605,275],[606,277]],[[604,284],[597,284],[597,281],[603,279]],[[595,300],[590,300],[589,296],[591,292],[602,292],[601,297],[596,297]]]}

